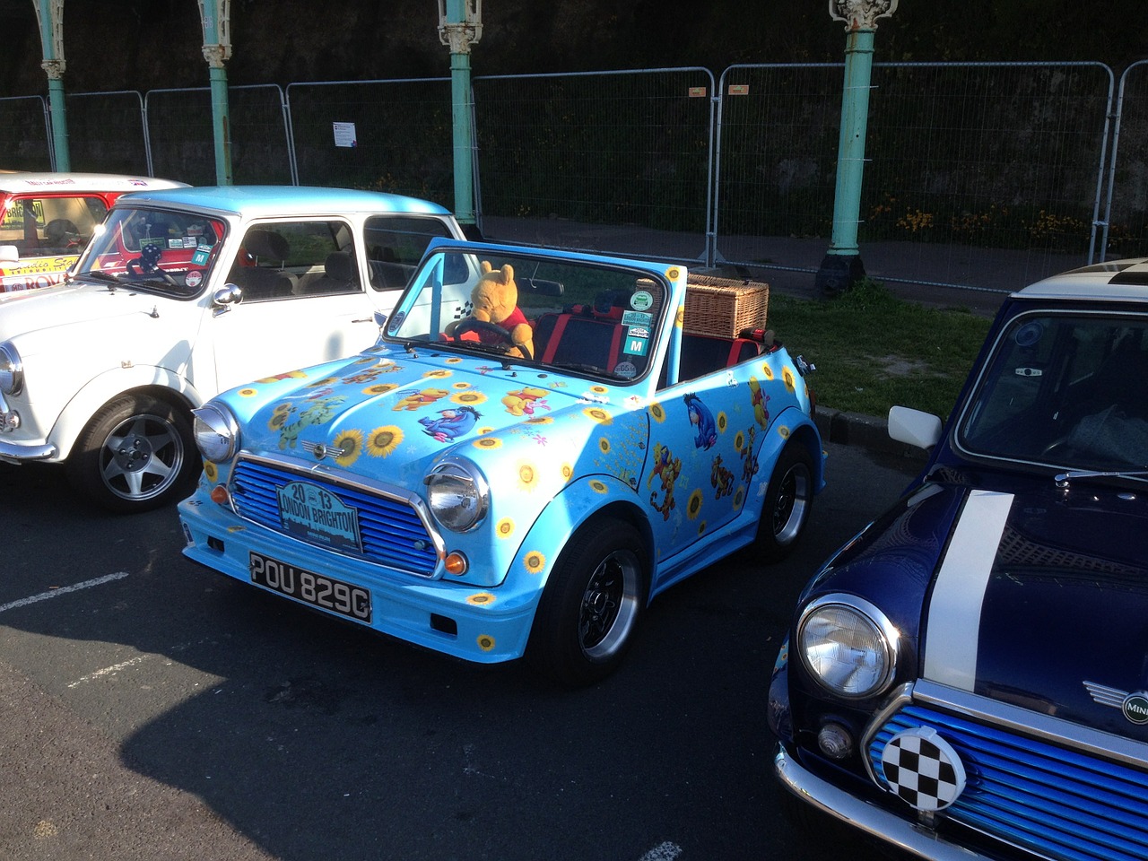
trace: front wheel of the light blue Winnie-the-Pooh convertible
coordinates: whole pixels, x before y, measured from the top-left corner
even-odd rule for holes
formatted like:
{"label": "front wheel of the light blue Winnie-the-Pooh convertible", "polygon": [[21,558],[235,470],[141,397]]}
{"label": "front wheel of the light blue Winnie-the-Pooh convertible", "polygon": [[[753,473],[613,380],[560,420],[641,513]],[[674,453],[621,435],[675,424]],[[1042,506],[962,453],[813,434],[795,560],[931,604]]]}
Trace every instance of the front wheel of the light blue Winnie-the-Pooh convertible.
{"label": "front wheel of the light blue Winnie-the-Pooh convertible", "polygon": [[599,518],[566,543],[526,646],[527,662],[567,688],[594,684],[621,664],[649,592],[650,563],[630,523]]}

